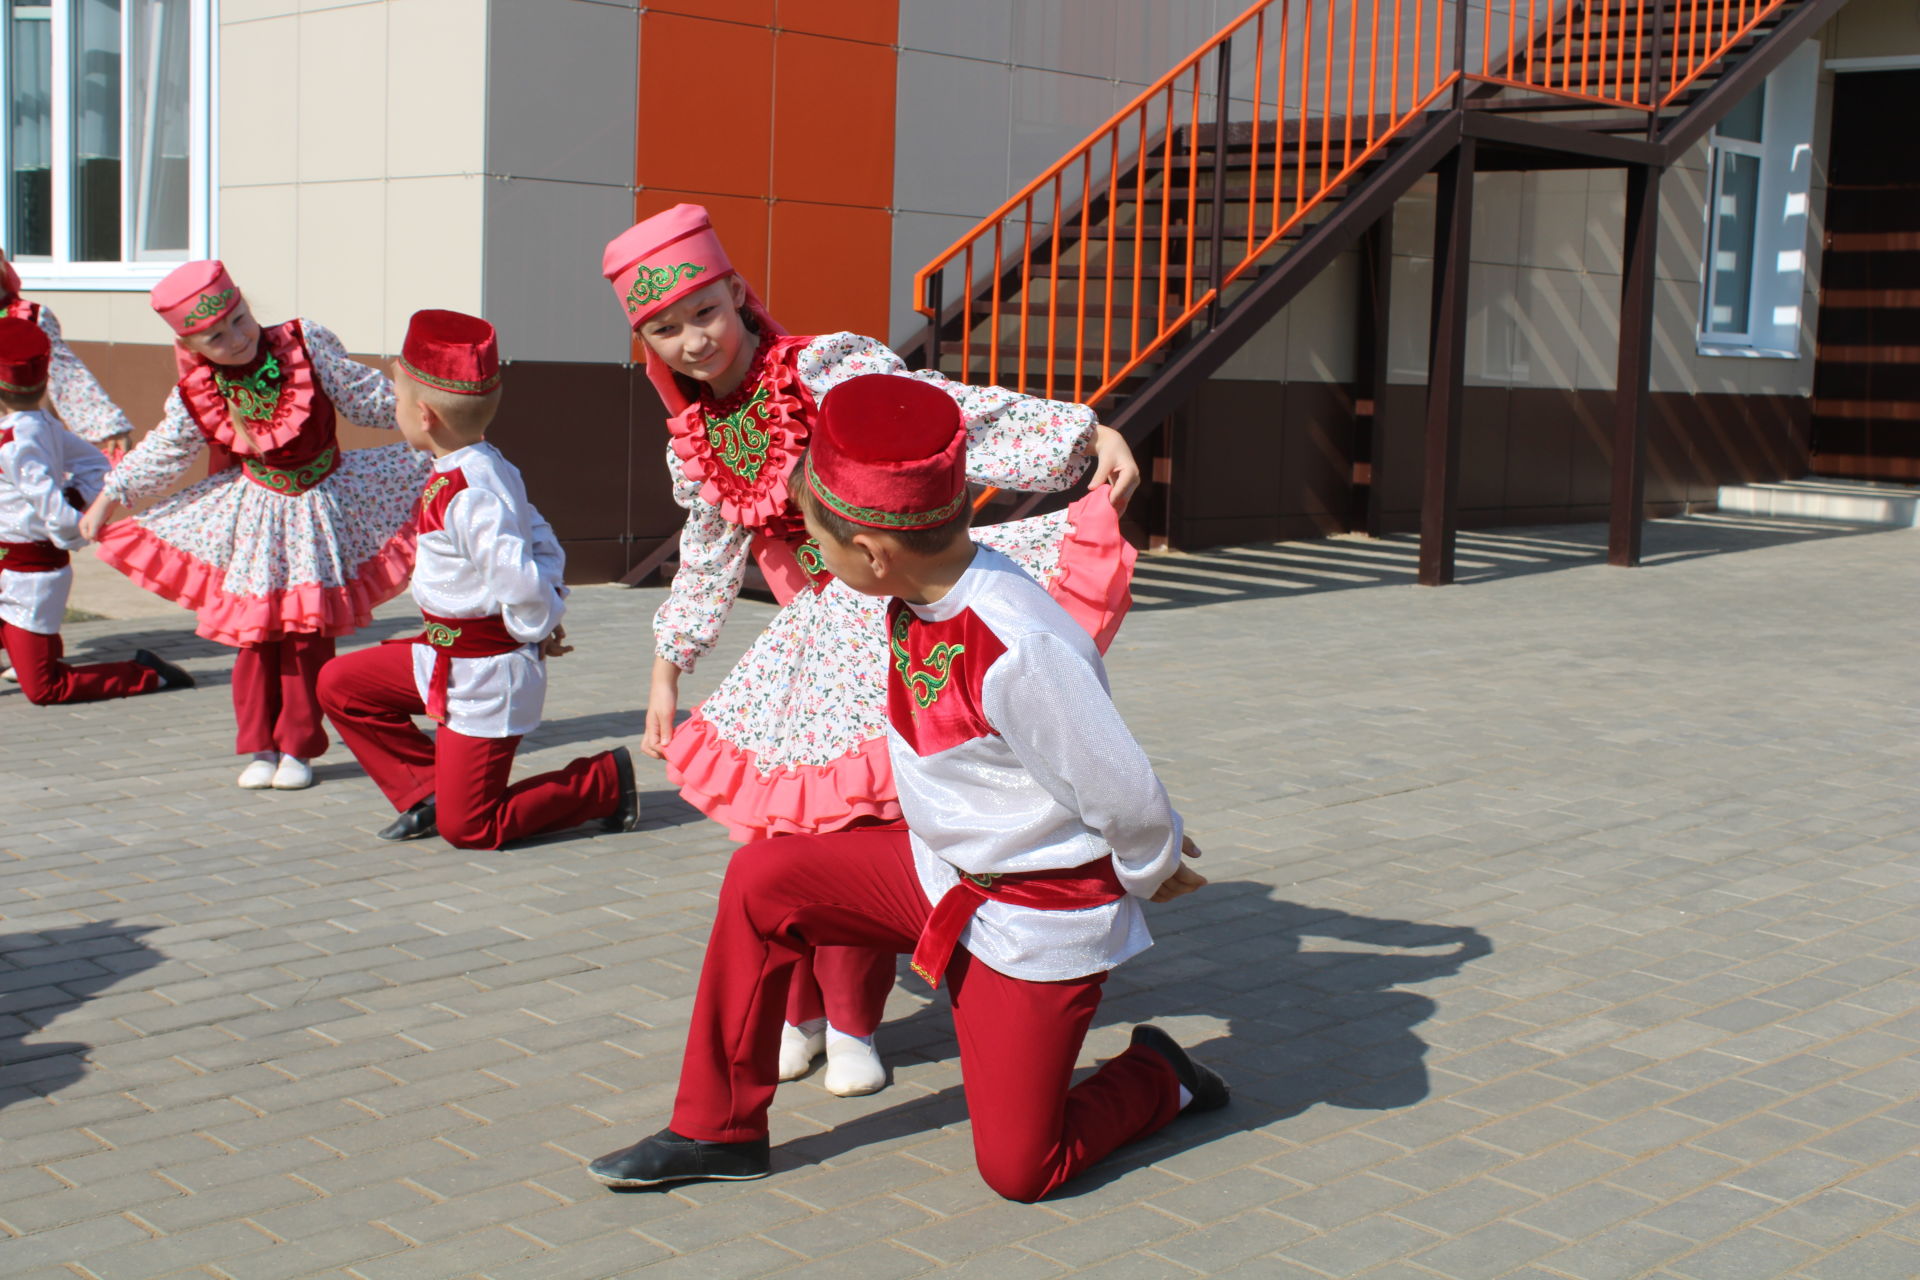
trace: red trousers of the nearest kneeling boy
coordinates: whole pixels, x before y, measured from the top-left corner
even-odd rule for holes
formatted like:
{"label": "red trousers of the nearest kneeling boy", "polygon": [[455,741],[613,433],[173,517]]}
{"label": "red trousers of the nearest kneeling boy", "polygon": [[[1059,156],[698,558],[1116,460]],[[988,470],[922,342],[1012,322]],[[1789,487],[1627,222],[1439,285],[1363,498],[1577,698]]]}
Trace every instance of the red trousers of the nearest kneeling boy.
{"label": "red trousers of the nearest kneeling boy", "polygon": [[[674,1132],[764,1136],[797,956],[808,946],[912,952],[929,912],[899,827],[787,835],[733,854],[693,1000]],[[947,969],[973,1159],[1008,1199],[1039,1199],[1179,1113],[1179,1080],[1150,1050],[1071,1082],[1102,983],[1104,973],[1027,983],[964,950]]]}

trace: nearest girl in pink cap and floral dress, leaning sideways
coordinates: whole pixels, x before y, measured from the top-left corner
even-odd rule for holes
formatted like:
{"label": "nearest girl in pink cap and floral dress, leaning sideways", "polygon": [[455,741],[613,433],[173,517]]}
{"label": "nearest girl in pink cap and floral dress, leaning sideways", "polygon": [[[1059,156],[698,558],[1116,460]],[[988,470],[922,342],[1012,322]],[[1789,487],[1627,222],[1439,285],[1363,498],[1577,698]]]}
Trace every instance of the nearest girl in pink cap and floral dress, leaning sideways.
{"label": "nearest girl in pink cap and floral dress, leaning sideways", "polygon": [[[1125,614],[1133,549],[1117,507],[1139,468],[1091,409],[1000,388],[908,372],[885,344],[858,334],[793,336],[733,273],[699,205],[676,205],[607,246],[601,263],[647,347],[647,376],[666,403],[666,466],[687,510],[680,570],[653,620],[655,662],[641,748],[735,841],[893,821],[885,745],[885,608],[828,574],[793,509],[787,474],[806,447],[820,397],[856,374],[937,384],[968,420],[968,476],[1021,491],[1058,491],[1094,464],[1094,489],[1050,516],[973,532],[1021,564],[1104,649]],[[708,652],[739,595],[747,560],[780,614],[720,687],[674,727],[680,676]],[[780,1079],[828,1054],[826,1088],[885,1084],[872,1046],[893,958],[820,948],[795,971]]]}

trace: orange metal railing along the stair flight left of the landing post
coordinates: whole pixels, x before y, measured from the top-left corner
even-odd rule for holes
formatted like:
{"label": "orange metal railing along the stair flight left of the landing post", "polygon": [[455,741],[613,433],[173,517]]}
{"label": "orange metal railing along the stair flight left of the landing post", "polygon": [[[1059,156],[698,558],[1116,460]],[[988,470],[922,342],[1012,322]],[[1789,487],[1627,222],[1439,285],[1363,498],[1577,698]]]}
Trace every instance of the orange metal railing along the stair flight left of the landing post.
{"label": "orange metal railing along the stair flight left of the landing post", "polygon": [[1250,6],[914,276],[939,317],[958,267],[958,376],[1098,405],[1459,79],[1450,42],[1440,0]]}

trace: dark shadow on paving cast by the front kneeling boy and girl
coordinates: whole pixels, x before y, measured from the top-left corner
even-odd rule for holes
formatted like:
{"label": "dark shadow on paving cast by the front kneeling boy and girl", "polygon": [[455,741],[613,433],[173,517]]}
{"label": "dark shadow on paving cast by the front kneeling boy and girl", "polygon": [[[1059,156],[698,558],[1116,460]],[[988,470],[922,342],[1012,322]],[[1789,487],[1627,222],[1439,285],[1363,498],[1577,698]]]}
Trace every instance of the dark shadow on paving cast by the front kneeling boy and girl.
{"label": "dark shadow on paving cast by the front kneeling boy and girl", "polygon": [[[1213,883],[1148,912],[1156,944],[1114,971],[1094,1025],[1165,1025],[1227,1079],[1233,1103],[1181,1117],[1121,1148],[1050,1199],[1085,1196],[1173,1151],[1263,1128],[1315,1103],[1386,1111],[1421,1102],[1428,1094],[1427,1042],[1413,1029],[1438,1004],[1405,988],[1452,977],[1494,950],[1476,929],[1300,906],[1275,900],[1269,885],[1252,881]],[[1340,944],[1308,948],[1306,938]],[[924,990],[918,979],[910,986]],[[1183,1019],[1225,1023],[1227,1031],[1208,1040],[1183,1031]],[[922,1057],[952,1059],[958,1048],[947,1002],[933,1000],[887,1023],[879,1046],[885,1057],[910,1046]],[[945,1088],[785,1142],[776,1150],[776,1169],[814,1165],[964,1119],[960,1088]]]}

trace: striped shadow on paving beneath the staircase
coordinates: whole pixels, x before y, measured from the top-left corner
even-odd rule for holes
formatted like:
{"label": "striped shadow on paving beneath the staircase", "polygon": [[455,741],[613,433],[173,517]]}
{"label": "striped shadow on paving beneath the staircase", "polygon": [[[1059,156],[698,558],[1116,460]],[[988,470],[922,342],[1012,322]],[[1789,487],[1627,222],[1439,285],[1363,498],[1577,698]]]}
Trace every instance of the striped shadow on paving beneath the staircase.
{"label": "striped shadow on paving beneath the staircase", "polygon": [[[1649,520],[1642,566],[1885,532],[1884,526],[1720,514]],[[1390,533],[1142,555],[1133,574],[1133,606],[1154,612],[1352,587],[1405,587],[1419,572],[1419,551],[1417,533]],[[1455,581],[1526,578],[1605,562],[1603,524],[1467,530],[1455,545]]]}

